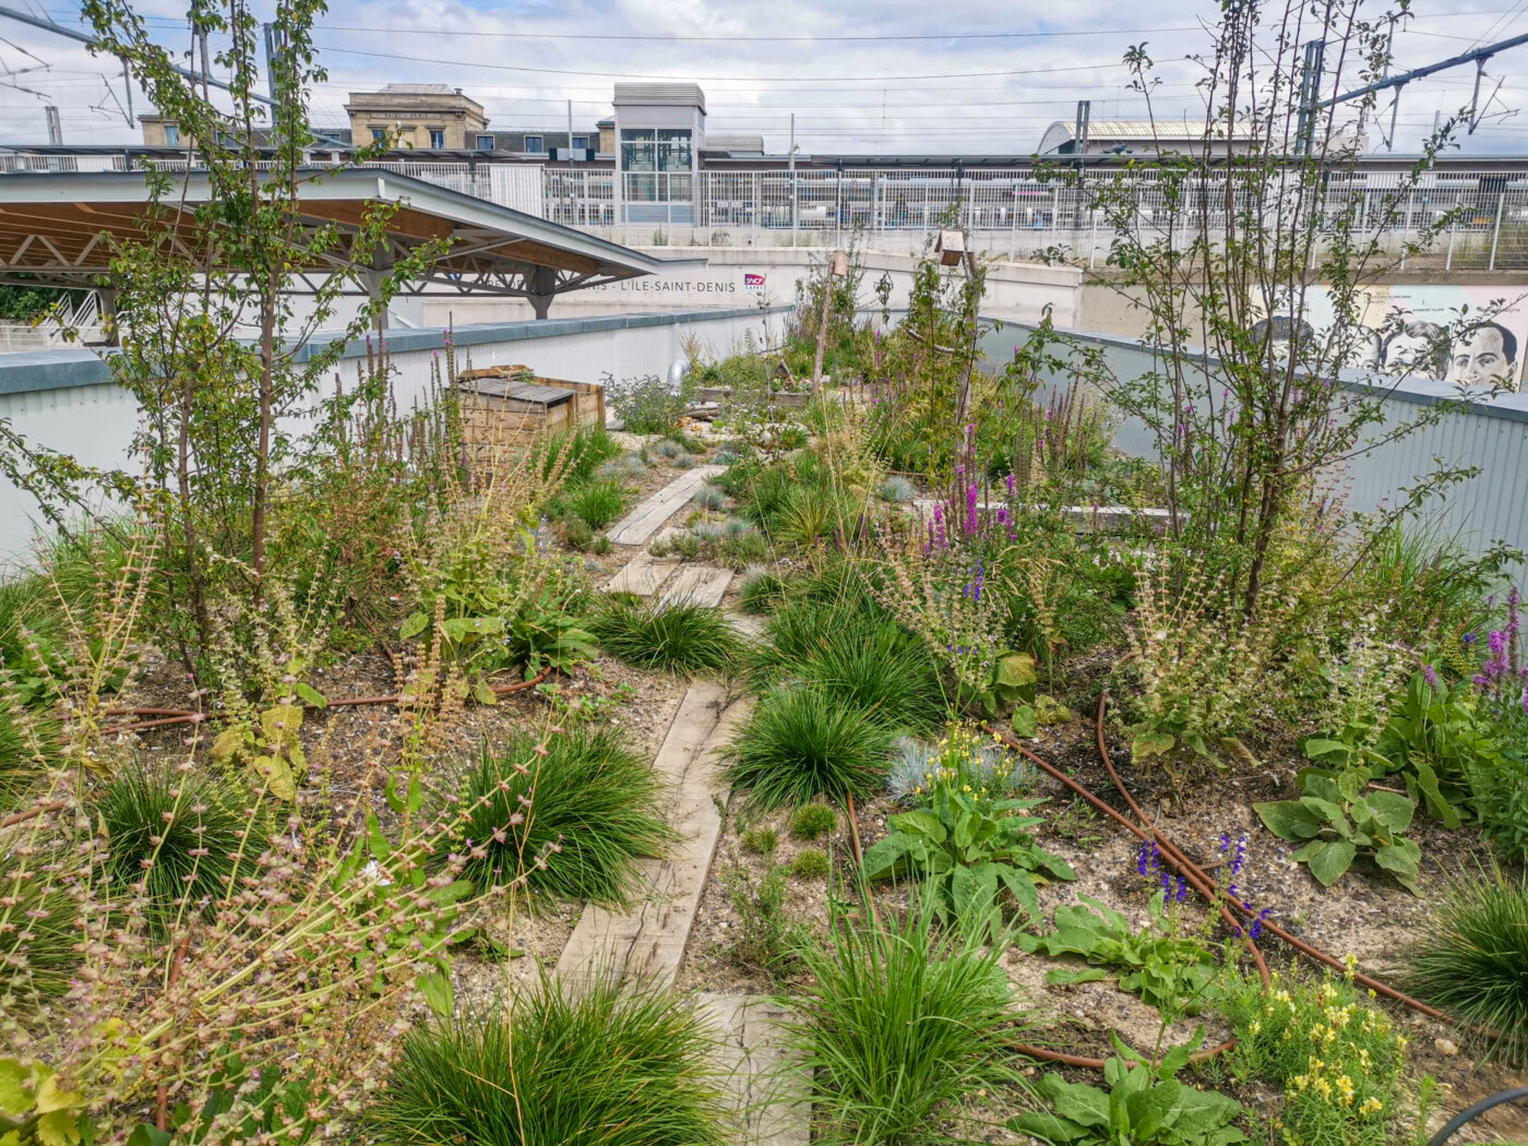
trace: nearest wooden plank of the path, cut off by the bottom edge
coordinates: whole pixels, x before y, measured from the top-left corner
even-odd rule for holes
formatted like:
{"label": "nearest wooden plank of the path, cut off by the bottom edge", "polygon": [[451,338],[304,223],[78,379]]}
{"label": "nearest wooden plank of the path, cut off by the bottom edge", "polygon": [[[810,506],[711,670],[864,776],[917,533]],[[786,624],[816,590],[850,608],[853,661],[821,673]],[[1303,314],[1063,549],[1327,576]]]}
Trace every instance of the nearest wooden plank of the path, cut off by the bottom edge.
{"label": "nearest wooden plank of the path, cut off by the bottom edge", "polygon": [[717,1057],[736,1100],[741,1146],[807,1146],[807,1109],[792,1102],[795,1080],[781,1071],[787,1012],[764,995],[704,992],[698,1002],[721,1039]]}

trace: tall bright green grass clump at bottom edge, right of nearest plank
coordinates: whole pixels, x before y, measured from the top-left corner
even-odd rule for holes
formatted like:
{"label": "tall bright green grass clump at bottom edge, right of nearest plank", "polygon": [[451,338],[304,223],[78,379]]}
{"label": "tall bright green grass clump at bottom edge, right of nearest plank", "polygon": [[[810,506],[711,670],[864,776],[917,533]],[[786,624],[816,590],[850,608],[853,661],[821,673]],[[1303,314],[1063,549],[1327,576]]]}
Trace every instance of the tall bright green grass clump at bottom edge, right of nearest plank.
{"label": "tall bright green grass clump at bottom edge, right of nearest plank", "polygon": [[1022,1083],[1008,1042],[1022,1013],[998,964],[1005,943],[937,931],[914,906],[871,911],[798,944],[808,984],[787,1039],[810,1079],[819,1143],[947,1141],[940,1122],[978,1091]]}

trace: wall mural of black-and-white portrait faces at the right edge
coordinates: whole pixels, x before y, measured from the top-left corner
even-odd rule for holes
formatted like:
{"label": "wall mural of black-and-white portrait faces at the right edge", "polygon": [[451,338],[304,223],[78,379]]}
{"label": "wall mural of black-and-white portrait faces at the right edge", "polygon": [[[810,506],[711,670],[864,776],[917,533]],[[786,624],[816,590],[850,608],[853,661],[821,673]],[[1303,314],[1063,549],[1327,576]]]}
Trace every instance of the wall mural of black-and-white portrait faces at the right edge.
{"label": "wall mural of black-and-white portrait faces at the right edge", "polygon": [[[1464,387],[1519,390],[1528,348],[1528,296],[1505,286],[1372,286],[1363,287],[1358,321],[1372,338],[1352,365]],[[1452,325],[1482,313],[1497,299],[1505,307],[1462,338],[1445,339]],[[1320,338],[1332,325],[1323,287],[1306,296],[1302,333]],[[1285,319],[1288,324],[1288,319]]]}

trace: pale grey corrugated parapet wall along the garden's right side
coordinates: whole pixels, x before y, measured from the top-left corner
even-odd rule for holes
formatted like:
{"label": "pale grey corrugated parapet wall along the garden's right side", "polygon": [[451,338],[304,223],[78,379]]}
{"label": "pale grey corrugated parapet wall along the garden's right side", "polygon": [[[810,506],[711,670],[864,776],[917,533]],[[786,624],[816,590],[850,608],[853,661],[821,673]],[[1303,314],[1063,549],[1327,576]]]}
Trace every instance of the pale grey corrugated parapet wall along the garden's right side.
{"label": "pale grey corrugated parapet wall along the garden's right side", "polygon": [[[1028,329],[1010,327],[983,341],[989,368],[1012,359],[1015,344]],[[1060,332],[1070,341],[1097,347],[1109,370],[1122,379],[1140,377],[1155,368],[1155,359],[1140,341],[1099,335],[1086,330]],[[1206,370],[1213,371],[1207,359]],[[1070,384],[1065,370],[1045,379],[1044,393]],[[1455,400],[1458,391],[1447,382],[1407,379],[1384,387],[1371,385],[1357,370],[1343,371],[1343,385],[1357,393],[1384,397],[1384,420],[1365,431],[1374,443],[1413,420],[1424,406]],[[1155,458],[1157,440],[1138,419],[1125,419],[1114,445],[1132,457]],[[1441,460],[1441,461],[1439,461]],[[1479,466],[1475,478],[1450,486],[1426,503],[1424,520],[1441,535],[1458,541],[1471,553],[1484,553],[1493,541],[1505,541],[1528,552],[1528,393],[1467,402],[1444,414],[1436,423],[1416,429],[1397,442],[1377,445],[1352,458],[1342,474],[1329,475],[1346,492],[1346,509],[1361,513],[1394,509],[1406,501],[1406,487],[1418,484],[1439,466]],[[1523,568],[1516,571],[1520,579]]]}

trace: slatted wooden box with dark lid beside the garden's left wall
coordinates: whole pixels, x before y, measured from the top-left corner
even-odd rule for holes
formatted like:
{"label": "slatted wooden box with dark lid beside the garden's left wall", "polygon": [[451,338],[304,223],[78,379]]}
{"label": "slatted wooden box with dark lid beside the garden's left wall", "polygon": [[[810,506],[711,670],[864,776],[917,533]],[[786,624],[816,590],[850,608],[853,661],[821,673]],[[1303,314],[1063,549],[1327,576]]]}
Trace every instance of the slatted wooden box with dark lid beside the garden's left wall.
{"label": "slatted wooden box with dark lid beside the garden's left wall", "polygon": [[605,388],[597,382],[538,377],[530,367],[465,370],[457,377],[461,437],[471,455],[518,452],[542,431],[605,425]]}

